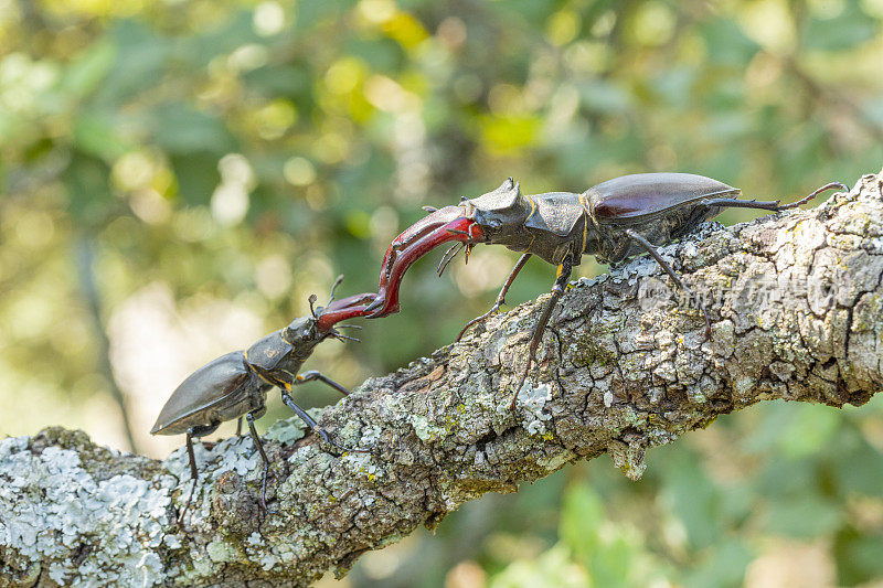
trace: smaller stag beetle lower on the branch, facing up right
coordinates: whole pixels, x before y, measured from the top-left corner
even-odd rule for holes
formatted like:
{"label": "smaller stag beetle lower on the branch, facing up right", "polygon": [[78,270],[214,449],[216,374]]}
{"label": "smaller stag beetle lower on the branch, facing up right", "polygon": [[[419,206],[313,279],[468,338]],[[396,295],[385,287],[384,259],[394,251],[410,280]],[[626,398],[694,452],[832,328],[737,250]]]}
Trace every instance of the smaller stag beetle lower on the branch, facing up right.
{"label": "smaller stag beetle lower on the branch, facing up right", "polygon": [[[343,276],[338,277],[331,287],[331,298],[327,307],[313,308],[316,295],[310,296],[310,317],[300,317],[291,323],[258,340],[245,351],[234,351],[203,365],[187,377],[172,393],[166,406],[150,430],[151,435],[187,435],[187,452],[190,458],[190,477],[193,487],[184,504],[179,524],[190,506],[195,490],[196,459],[193,455],[193,437],[204,437],[217,429],[221,423],[242,417],[248,423],[252,439],[264,461],[264,482],[260,504],[266,511],[267,475],[269,459],[264,452],[260,437],[255,430],[254,420],[266,413],[267,392],[277,386],[283,402],[295,411],[307,426],[330,446],[345,450],[328,437],[319,425],[291,398],[294,386],[318,379],[340,392],[349,394],[347,388],[311,370],[298,374],[298,370],[312,354],[312,350],[328,338],[338,340],[358,339],[341,334],[334,324],[340,321],[361,317],[365,313],[365,304],[375,295],[355,295],[342,300],[334,300],[334,289]],[[339,325],[350,327],[350,325]],[[358,327],[355,327],[358,328]],[[238,427],[237,427],[238,432]],[[361,451],[361,449],[355,449]]]}

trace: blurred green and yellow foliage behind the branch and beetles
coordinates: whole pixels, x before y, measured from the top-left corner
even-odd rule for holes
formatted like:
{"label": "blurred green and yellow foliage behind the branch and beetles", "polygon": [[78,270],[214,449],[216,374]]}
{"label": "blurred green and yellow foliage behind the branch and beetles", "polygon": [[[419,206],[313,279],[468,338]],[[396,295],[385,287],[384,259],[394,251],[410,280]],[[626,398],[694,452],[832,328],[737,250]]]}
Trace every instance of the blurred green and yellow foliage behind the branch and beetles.
{"label": "blurred green and yellow foliage behind the branch and beetles", "polygon": [[[171,316],[228,301],[268,332],[339,272],[343,293],[375,289],[421,205],[509,175],[536,193],[690,171],[791,197],[875,172],[881,18],[881,0],[0,0],[0,431],[62,419],[100,438],[115,379],[132,420],[152,418],[119,359],[148,344],[113,352],[111,332],[114,372],[100,359],[150,285]],[[513,261],[480,248],[442,280],[419,264],[401,314],[311,367],[355,385],[444,345]],[[510,300],[552,277],[529,265]],[[605,459],[567,467],[345,581],[880,582],[882,417],[875,399],[722,418],[651,451],[639,483]]]}

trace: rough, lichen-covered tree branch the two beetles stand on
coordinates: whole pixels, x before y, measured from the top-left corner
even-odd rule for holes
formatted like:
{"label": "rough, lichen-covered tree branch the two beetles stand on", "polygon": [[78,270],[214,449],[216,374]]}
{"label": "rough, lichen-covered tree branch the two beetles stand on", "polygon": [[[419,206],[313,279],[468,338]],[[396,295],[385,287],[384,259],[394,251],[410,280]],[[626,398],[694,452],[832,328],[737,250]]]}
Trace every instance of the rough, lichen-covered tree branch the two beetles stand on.
{"label": "rough, lichen-covered tree branch the two beetles stand on", "polygon": [[166,461],[45,429],[0,441],[0,586],[298,586],[436,525],[465,501],[512,492],[605,451],[630,478],[645,451],[719,415],[785,398],[861,405],[883,388],[883,180],[806,211],[663,248],[713,319],[670,298],[639,258],[579,280],[554,313],[518,397],[539,302],[365,382],[321,424],[366,453],[336,457],[280,421],[274,511],[258,509],[248,438],[202,449],[187,534],[187,458]]}

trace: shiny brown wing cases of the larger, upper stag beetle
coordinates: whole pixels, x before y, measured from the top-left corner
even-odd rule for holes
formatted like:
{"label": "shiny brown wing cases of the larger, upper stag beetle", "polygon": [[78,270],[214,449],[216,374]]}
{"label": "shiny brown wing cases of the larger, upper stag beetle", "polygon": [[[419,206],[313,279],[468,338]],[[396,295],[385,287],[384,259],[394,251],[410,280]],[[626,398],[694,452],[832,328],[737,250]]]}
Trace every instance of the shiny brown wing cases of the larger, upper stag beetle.
{"label": "shiny brown wing cases of the larger, upper stag beetle", "polygon": [[693,173],[636,173],[602,182],[584,194],[598,223],[629,224],[705,197],[735,199],[741,190]]}

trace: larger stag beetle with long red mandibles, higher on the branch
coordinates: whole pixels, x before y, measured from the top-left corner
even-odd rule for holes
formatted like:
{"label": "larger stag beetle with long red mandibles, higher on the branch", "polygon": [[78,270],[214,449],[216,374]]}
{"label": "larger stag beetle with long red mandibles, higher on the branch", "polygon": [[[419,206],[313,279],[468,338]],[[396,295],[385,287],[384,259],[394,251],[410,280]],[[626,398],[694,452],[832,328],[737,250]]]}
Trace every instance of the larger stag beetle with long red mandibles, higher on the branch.
{"label": "larger stag beetle with long red mandibles, higher on the branch", "polygon": [[469,327],[504,303],[509,287],[531,256],[536,255],[557,266],[552,298],[534,327],[528,365],[512,397],[511,408],[514,409],[518,391],[535,361],[552,310],[583,254],[594,255],[603,264],[618,264],[632,255],[649,253],[672,281],[696,300],[705,319],[706,336],[710,336],[711,322],[705,307],[655,246],[667,245],[687,235],[723,209],[786,211],[832,188],[849,190],[832,182],[797,202],[780,204],[778,200],[738,200],[740,189],[691,173],[638,173],[608,180],[582,194],[550,192],[536,195],[522,195],[519,184],[509,178],[493,192],[476,199],[461,199],[458,205],[440,210],[425,207],[430,214],[405,229],[390,245],[381,270],[380,291],[366,309],[374,313],[368,318],[395,312],[398,309],[398,284],[404,271],[418,257],[445,242],[459,243],[442,257],[439,275],[460,250],[466,252],[468,260],[469,252],[479,243],[504,245],[522,254],[494,304],[485,314],[469,321],[457,335],[457,341]]}

